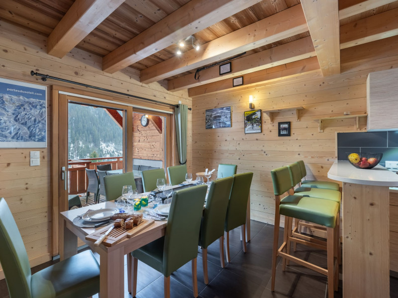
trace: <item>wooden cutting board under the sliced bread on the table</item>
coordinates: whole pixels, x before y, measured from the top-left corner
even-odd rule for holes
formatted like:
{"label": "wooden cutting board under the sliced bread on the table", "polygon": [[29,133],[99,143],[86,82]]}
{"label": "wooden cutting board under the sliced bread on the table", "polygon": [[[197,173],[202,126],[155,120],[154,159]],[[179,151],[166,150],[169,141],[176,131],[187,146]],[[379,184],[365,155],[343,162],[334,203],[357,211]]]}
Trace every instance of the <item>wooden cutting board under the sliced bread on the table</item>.
{"label": "wooden cutting board under the sliced bread on the table", "polygon": [[[147,228],[151,224],[153,224],[155,221],[154,220],[142,220],[142,223],[139,225],[134,226],[133,228],[130,229],[125,229],[124,226],[122,227],[115,227],[113,228],[110,233],[106,236],[106,238],[102,241],[102,244],[105,246],[113,246],[116,243],[119,243],[121,240],[127,238],[131,238],[138,232],[142,231],[143,229]],[[91,233],[86,236],[86,240],[90,241],[97,241],[100,236],[105,233],[109,229],[110,225],[107,227],[95,231],[94,233]]]}

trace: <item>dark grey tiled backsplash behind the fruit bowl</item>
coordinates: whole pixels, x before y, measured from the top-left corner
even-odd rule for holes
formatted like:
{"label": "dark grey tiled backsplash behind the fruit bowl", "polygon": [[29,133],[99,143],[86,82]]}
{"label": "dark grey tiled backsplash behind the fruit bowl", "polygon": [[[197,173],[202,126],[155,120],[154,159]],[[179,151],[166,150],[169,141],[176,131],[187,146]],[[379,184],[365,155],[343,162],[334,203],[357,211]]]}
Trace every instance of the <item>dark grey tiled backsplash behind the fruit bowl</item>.
{"label": "dark grey tiled backsplash behind the fruit bowl", "polygon": [[383,166],[386,160],[398,161],[398,131],[338,133],[337,159],[347,160],[346,152],[383,153]]}

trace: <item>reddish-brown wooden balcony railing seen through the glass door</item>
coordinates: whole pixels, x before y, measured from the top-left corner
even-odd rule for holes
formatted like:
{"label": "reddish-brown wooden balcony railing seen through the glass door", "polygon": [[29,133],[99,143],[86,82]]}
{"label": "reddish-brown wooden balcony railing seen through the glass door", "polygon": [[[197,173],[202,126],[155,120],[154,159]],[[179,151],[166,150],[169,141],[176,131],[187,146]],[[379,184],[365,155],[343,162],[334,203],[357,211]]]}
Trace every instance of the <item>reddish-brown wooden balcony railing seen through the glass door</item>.
{"label": "reddish-brown wooden balcony railing seen through the glass door", "polygon": [[87,169],[97,169],[97,165],[109,164],[112,170],[119,170],[123,168],[123,157],[95,157],[82,159],[69,159],[68,174],[69,174],[69,194],[82,194],[87,191],[89,178],[86,174]]}

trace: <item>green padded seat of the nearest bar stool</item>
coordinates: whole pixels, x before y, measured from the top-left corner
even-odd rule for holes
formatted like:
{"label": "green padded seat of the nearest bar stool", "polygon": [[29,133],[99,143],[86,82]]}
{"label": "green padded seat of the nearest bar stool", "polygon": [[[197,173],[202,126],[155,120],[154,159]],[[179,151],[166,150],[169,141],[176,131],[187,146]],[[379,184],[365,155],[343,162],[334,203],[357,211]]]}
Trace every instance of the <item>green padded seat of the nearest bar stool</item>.
{"label": "green padded seat of the nearest bar stool", "polygon": [[334,227],[339,204],[331,200],[287,196],[281,200],[279,213],[299,220]]}

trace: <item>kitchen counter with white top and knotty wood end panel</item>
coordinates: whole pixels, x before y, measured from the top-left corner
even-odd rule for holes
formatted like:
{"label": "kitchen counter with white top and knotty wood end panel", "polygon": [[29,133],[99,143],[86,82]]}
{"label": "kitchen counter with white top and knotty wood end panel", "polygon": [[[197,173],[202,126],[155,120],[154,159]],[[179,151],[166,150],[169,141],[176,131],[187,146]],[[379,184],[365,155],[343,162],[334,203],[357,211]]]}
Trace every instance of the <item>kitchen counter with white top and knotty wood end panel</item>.
{"label": "kitchen counter with white top and knotty wood end panel", "polygon": [[335,161],[327,176],[343,182],[343,297],[390,297],[389,187],[398,175]]}

